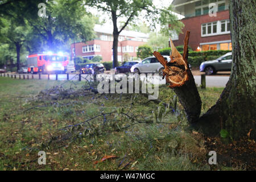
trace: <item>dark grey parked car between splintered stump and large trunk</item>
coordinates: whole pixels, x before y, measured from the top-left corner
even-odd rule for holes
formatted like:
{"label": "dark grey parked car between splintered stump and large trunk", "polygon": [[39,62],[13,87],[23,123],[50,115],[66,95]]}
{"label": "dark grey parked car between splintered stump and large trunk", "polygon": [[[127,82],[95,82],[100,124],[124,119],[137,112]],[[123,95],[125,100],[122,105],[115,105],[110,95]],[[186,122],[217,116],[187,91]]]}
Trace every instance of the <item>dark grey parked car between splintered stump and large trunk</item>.
{"label": "dark grey parked car between splintered stump and large trunk", "polygon": [[216,60],[201,63],[200,72],[205,72],[206,75],[213,75],[218,71],[231,71],[231,66],[232,52],[228,52]]}

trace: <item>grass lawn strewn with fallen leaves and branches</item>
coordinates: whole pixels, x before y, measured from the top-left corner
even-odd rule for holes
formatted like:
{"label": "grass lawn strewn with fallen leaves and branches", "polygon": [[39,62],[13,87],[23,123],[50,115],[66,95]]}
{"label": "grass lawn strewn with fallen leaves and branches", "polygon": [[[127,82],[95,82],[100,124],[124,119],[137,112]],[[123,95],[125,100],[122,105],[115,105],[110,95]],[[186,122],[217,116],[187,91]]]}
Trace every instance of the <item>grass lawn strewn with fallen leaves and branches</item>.
{"label": "grass lawn strewn with fallen leaves and branches", "polygon": [[[0,77],[0,170],[210,169],[205,139],[188,130],[179,102],[174,113],[140,94],[69,94],[84,82],[55,88],[61,97],[40,93],[63,83]],[[159,89],[159,100],[174,106],[175,93]],[[222,90],[199,88],[202,113]],[[46,165],[38,164],[39,151]],[[112,158],[101,162],[105,155]]]}

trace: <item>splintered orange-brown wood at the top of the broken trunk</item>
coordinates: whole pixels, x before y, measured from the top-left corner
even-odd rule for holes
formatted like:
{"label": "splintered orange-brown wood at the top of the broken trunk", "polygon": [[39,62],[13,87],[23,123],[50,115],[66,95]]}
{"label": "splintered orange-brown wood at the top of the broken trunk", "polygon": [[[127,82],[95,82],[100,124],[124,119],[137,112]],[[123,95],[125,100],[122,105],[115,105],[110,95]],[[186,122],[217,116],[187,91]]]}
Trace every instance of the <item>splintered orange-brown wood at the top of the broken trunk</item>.
{"label": "splintered orange-brown wood at the top of the broken trunk", "polygon": [[166,81],[170,84],[170,88],[176,88],[185,84],[188,81],[188,63],[187,63],[187,47],[188,47],[188,36],[189,32],[186,34],[184,41],[184,53],[183,56],[180,55],[179,51],[172,43],[170,39],[171,46],[171,61],[164,60],[164,57],[159,52],[154,52],[153,55],[158,59],[158,61],[163,65],[163,78],[166,77]]}

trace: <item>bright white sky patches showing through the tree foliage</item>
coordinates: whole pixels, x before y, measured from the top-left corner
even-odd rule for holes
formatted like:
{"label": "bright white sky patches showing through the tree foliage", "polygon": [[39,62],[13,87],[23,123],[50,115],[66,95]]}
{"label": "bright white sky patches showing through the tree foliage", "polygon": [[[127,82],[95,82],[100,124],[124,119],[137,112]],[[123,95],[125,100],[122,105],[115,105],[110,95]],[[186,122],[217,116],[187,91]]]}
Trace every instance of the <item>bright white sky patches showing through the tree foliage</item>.
{"label": "bright white sky patches showing through the tree foliage", "polygon": [[[173,0],[153,0],[153,3],[156,7],[158,8],[161,8],[161,7],[168,7],[171,5]],[[102,13],[101,11],[98,11],[97,9],[93,9],[93,8],[88,8],[86,7],[86,9],[94,14],[94,15],[97,15],[98,17],[100,17],[100,21],[102,20],[105,20],[106,23],[104,24],[104,26],[107,26],[107,27],[110,27],[110,28],[113,28],[113,23],[112,23],[112,19],[110,18],[110,16],[106,13]],[[174,13],[175,14],[175,13]],[[139,17],[138,19],[140,20],[140,22],[146,22],[147,23],[147,20],[143,18],[143,14],[141,17]],[[125,18],[119,18],[118,22],[125,22],[126,19]],[[119,25],[119,23],[118,23]],[[160,30],[160,25],[159,24],[156,24],[156,31],[159,31]]]}

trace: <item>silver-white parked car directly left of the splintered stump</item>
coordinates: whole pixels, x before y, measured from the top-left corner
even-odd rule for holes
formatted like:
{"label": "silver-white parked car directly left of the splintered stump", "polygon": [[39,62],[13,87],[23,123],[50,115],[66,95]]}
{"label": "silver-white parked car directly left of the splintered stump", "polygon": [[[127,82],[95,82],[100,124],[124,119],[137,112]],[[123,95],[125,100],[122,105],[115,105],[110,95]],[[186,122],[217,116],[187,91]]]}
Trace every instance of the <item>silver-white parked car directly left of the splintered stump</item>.
{"label": "silver-white parked car directly left of the splintered stump", "polygon": [[[163,56],[165,60],[170,61],[170,56]],[[135,64],[131,67],[132,73],[163,73],[163,65],[154,57],[147,57],[141,63]]]}

